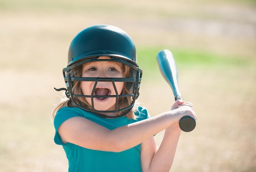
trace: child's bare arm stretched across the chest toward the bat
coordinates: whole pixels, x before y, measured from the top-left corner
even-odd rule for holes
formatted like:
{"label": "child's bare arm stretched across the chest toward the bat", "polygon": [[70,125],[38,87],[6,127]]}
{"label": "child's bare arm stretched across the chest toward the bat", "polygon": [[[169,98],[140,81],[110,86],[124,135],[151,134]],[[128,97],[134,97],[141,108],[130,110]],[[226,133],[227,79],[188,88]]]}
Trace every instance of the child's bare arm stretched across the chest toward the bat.
{"label": "child's bare arm stretched across the chest toward the bat", "polygon": [[193,114],[191,108],[178,108],[115,130],[108,130],[83,117],[73,117],[61,124],[58,133],[63,143],[74,143],[93,150],[121,152],[168,128],[184,115]]}

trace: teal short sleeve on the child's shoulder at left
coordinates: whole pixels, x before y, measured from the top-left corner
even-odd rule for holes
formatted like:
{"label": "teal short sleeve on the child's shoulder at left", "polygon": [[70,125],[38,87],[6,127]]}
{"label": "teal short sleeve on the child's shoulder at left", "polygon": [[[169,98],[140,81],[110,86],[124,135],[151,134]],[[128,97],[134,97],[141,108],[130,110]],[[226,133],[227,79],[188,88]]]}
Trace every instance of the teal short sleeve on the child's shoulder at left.
{"label": "teal short sleeve on the child's shoulder at left", "polygon": [[70,119],[72,117],[81,117],[81,116],[82,115],[78,111],[75,111],[74,108],[69,108],[69,107],[61,108],[56,112],[56,115],[54,117],[54,128],[55,128],[54,142],[57,145],[64,145],[64,143],[61,141],[61,136],[58,134],[58,128],[61,126],[61,124],[67,119]]}

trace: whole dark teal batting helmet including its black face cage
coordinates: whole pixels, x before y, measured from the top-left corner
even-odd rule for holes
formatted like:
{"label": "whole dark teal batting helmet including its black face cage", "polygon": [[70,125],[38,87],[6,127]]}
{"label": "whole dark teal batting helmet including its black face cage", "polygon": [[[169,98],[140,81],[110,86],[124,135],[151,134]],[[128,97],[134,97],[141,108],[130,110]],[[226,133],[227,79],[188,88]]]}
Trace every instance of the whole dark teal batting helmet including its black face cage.
{"label": "whole dark teal batting helmet including its black face cage", "polygon": [[[110,57],[110,59],[98,59],[101,56],[108,56]],[[72,103],[76,107],[82,108],[83,110],[87,110],[90,112],[94,112],[100,115],[101,117],[110,117],[101,114],[108,112],[119,112],[120,115],[117,117],[121,117],[126,115],[132,109],[132,107],[135,104],[135,100],[139,96],[139,86],[141,82],[142,70],[139,68],[137,64],[137,53],[135,45],[130,36],[125,31],[119,29],[116,26],[110,25],[90,26],[79,32],[73,38],[69,47],[67,60],[67,67],[63,69],[63,75],[67,86],[66,95],[68,98],[70,98],[70,101],[72,101]],[[70,72],[74,68],[81,66],[82,64],[95,61],[121,62],[129,66],[129,77],[85,78],[80,76],[74,76],[72,75],[72,72]],[[118,93],[116,92],[116,95],[114,96],[117,99],[115,110],[100,111],[94,109],[93,99],[97,97],[111,97],[111,95],[93,95],[93,92],[95,90],[92,90],[91,95],[75,94],[74,89],[72,89],[74,87],[74,82],[81,81],[94,81],[94,88],[96,87],[97,82],[112,82],[115,90],[115,82],[124,82],[129,90],[129,93],[121,93],[121,95],[118,95]],[[81,102],[79,102],[78,97],[90,97],[92,100],[92,107],[89,108],[83,106]],[[128,97],[129,99],[131,99],[131,104],[128,104],[126,107],[119,108],[118,99],[120,99],[121,97]]]}

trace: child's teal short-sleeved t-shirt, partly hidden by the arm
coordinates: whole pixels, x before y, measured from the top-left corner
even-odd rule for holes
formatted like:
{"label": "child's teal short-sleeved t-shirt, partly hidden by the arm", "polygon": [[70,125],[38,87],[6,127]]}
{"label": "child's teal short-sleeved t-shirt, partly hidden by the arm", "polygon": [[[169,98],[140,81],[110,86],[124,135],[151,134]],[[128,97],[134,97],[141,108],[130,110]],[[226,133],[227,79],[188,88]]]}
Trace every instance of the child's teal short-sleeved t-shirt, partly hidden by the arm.
{"label": "child's teal short-sleeved t-shirt, partly hidden by the arm", "polygon": [[56,130],[54,142],[63,146],[69,162],[69,172],[141,172],[140,144],[122,152],[90,150],[72,143],[63,144],[57,132],[59,126],[72,117],[85,117],[109,130],[150,117],[146,108],[141,106],[135,115],[137,119],[128,119],[127,117],[109,119],[101,118],[80,108],[64,107],[58,110],[54,118]]}

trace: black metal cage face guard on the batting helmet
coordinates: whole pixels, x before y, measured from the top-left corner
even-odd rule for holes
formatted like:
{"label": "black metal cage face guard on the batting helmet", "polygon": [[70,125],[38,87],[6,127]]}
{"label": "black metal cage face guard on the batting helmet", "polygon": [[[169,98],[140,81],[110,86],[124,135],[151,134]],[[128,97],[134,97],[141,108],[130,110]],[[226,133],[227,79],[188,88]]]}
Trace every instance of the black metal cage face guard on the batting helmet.
{"label": "black metal cage face guard on the batting helmet", "polygon": [[[113,118],[112,116],[102,114],[102,113],[112,113],[112,112],[119,113],[117,117],[124,116],[132,109],[132,107],[135,104],[135,100],[139,96],[139,86],[141,83],[142,70],[139,67],[135,66],[134,64],[131,64],[130,62],[127,62],[126,60],[123,60],[120,58],[116,58],[116,57],[110,57],[110,59],[98,59],[98,58],[99,57],[87,58],[79,63],[73,64],[72,66],[68,66],[67,68],[63,69],[63,77],[67,87],[68,95],[76,107],[79,107],[89,112],[94,112],[101,117]],[[74,75],[72,75],[72,72],[70,72],[74,70],[74,68],[88,62],[105,62],[105,61],[121,62],[129,66],[130,68],[129,76],[123,77],[123,78],[75,77]],[[90,95],[74,94],[72,90],[75,82],[94,82],[92,93]],[[115,95],[94,95],[98,82],[111,82],[115,89]],[[121,94],[118,94],[115,82],[124,82],[124,86],[126,86],[126,88],[128,89],[128,93],[124,94],[122,92]],[[83,106],[83,104],[81,104],[81,101],[79,101],[78,97],[81,97],[84,100],[86,97],[89,97],[91,99],[91,106]],[[115,110],[97,110],[94,108],[94,98],[109,98],[109,97],[116,98]],[[119,101],[121,98],[130,99],[131,101],[130,104],[126,104],[126,106],[122,106],[121,108],[119,108],[119,104],[120,104]]]}

